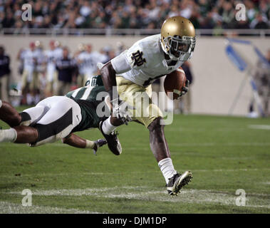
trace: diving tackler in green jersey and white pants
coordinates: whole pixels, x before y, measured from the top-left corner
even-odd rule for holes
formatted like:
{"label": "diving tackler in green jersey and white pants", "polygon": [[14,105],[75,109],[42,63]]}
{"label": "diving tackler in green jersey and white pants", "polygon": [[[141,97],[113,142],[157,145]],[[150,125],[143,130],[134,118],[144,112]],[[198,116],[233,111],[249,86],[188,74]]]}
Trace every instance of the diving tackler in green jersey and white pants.
{"label": "diving tackler in green jersey and white pants", "polygon": [[[101,105],[105,96],[97,98],[100,91],[105,91],[105,88],[97,86],[94,77],[92,83],[88,81],[88,86],[73,90],[66,96],[53,96],[41,100],[35,107],[22,113],[0,100],[0,119],[11,126],[8,130],[0,130],[0,142],[38,146],[61,139],[63,143],[73,147],[92,148],[96,153],[98,147],[107,143],[106,140],[99,139],[93,142],[73,133],[98,128],[100,120],[105,118],[105,115],[96,113],[98,105],[110,113],[105,103]],[[118,141],[116,134],[114,139]],[[120,142],[118,150],[122,150]]]}

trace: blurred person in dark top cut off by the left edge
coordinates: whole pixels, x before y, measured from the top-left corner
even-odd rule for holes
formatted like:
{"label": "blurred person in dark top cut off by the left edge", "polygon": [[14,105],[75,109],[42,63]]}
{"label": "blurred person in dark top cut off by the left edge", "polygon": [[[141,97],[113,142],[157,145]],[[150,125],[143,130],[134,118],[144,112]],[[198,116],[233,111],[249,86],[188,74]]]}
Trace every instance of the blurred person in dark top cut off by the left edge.
{"label": "blurred person in dark top cut off by the left edge", "polygon": [[0,99],[9,101],[9,56],[5,54],[4,46],[0,46]]}

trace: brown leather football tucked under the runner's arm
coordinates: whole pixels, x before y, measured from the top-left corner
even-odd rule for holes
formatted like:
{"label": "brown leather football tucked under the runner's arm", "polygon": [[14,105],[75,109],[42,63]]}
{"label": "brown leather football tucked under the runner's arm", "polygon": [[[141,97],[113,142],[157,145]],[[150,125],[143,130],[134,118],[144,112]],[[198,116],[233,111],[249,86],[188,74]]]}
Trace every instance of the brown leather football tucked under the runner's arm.
{"label": "brown leather football tucked under the runner's arm", "polygon": [[[172,92],[173,100],[177,99],[183,86],[185,86],[186,80],[185,71],[183,71],[182,67],[167,74],[163,84],[166,95],[168,96],[168,92]],[[170,96],[168,97],[170,98]]]}

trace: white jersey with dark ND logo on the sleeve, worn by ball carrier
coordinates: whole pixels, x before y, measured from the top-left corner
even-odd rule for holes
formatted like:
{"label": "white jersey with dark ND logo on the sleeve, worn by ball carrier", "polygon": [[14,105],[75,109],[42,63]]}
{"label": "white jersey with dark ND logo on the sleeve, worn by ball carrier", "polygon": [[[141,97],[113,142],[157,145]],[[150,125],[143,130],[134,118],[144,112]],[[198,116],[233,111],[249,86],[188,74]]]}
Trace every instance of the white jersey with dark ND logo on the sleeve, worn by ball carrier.
{"label": "white jersey with dark ND logo on the sleeve, worn by ball carrier", "polygon": [[133,44],[111,61],[117,76],[132,81],[139,86],[149,86],[155,79],[172,73],[182,65],[177,61],[168,66],[160,46],[160,34],[147,36]]}

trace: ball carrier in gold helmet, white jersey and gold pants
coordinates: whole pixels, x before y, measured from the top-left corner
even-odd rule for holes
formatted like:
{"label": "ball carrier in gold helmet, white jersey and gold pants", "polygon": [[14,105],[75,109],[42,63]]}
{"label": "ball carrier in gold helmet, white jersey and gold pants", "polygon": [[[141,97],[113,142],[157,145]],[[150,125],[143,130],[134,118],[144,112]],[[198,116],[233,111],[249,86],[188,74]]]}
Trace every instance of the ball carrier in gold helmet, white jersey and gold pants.
{"label": "ball carrier in gold helmet, white jersey and gold pants", "polygon": [[[104,66],[99,64],[105,90],[113,105],[113,115],[100,123],[100,131],[108,141],[108,147],[115,155],[120,155],[117,142],[110,137],[119,125],[128,124],[130,120],[145,125],[150,132],[150,147],[165,177],[169,195],[177,195],[191,180],[192,172],[186,171],[181,175],[172,164],[162,125],[162,112],[151,100],[151,83],[177,70],[192,56],[194,46],[192,23],[181,16],[173,16],[162,24],[160,34],[142,38]],[[180,96],[187,90],[188,82]],[[141,100],[149,101],[149,105],[145,107]]]}

